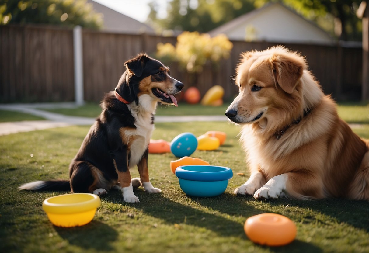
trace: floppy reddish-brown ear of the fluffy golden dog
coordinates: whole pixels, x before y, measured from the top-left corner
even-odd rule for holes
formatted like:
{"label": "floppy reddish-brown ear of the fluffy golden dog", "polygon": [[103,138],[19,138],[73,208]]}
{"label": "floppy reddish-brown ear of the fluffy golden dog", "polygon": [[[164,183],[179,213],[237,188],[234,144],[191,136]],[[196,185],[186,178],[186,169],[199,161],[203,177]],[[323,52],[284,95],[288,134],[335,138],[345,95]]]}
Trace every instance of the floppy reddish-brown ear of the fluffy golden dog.
{"label": "floppy reddish-brown ear of the fluffy golden dog", "polygon": [[291,55],[275,54],[270,58],[276,84],[285,92],[292,94],[297,81],[306,69],[306,62],[297,53]]}

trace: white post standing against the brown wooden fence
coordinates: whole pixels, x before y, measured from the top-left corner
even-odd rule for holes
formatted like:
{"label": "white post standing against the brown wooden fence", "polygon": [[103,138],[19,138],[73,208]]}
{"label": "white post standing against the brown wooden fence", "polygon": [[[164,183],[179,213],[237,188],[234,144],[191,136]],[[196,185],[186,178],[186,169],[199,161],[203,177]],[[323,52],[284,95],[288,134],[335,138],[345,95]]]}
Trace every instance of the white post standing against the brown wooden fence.
{"label": "white post standing against the brown wooden fence", "polygon": [[73,28],[73,58],[74,58],[74,91],[77,105],[83,105],[83,52],[82,27]]}

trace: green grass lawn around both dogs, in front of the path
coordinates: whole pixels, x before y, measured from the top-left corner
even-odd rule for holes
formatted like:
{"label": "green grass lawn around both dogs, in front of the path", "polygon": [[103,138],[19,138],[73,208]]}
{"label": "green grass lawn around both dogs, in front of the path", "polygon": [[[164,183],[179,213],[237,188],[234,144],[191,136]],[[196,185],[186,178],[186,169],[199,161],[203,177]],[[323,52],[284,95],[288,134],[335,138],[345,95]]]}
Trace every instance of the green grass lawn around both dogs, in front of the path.
{"label": "green grass lawn around both dogs, in front of the path", "polygon": [[[256,201],[236,196],[234,188],[248,176],[237,126],[188,122],[157,123],[155,127],[152,138],[168,141],[187,131],[196,136],[208,130],[227,132],[227,141],[218,150],[197,150],[192,155],[233,170],[225,193],[213,198],[189,197],[170,171],[170,160],[177,158],[170,153],[149,155],[150,179],[162,189],[161,194],[148,195],[138,189],[135,194],[141,202],[131,204],[123,202],[118,191],[111,191],[101,198],[92,222],[58,228],[48,221],[42,201],[66,192],[18,192],[17,187],[33,180],[67,179],[69,162],[89,128],[0,136],[0,252],[369,252],[368,201]],[[368,130],[368,126],[354,129],[366,138]],[[131,174],[138,176],[136,169]],[[265,212],[292,219],[297,225],[296,240],[282,247],[259,246],[248,240],[245,220]]]}

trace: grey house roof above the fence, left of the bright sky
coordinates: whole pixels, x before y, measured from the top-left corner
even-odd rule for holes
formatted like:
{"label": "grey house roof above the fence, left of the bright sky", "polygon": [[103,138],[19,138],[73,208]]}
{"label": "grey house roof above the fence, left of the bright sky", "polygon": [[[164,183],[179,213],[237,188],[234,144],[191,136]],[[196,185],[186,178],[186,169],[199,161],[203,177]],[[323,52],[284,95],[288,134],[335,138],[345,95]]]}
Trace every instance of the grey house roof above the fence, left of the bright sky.
{"label": "grey house roof above the fence, left of the bright sky", "polygon": [[152,27],[141,23],[134,18],[128,17],[93,0],[87,0],[87,3],[93,4],[94,10],[104,15],[104,26],[102,29],[104,31],[122,32],[129,34],[155,33]]}

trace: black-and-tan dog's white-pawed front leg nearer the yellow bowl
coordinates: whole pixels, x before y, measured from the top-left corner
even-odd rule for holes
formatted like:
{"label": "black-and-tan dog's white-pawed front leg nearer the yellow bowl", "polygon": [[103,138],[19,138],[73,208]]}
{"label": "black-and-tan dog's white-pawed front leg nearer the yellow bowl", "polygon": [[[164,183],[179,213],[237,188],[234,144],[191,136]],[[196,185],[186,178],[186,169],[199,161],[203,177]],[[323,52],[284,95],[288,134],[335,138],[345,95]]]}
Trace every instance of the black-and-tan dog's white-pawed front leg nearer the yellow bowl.
{"label": "black-and-tan dog's white-pawed front leg nearer the yellow bowl", "polygon": [[118,182],[123,195],[123,201],[135,203],[139,202],[138,197],[133,193],[132,177],[128,166],[127,146],[122,146],[113,152],[115,171],[118,174]]}

